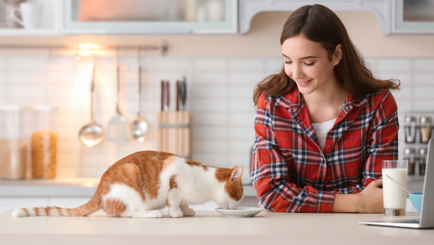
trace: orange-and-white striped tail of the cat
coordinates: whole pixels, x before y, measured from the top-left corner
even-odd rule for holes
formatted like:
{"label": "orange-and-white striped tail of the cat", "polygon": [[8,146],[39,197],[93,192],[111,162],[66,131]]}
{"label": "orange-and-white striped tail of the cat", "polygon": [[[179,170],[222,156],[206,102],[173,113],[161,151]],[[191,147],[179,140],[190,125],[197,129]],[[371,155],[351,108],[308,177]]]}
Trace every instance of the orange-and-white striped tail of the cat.
{"label": "orange-and-white striped tail of the cat", "polygon": [[99,198],[95,195],[88,203],[75,208],[62,207],[23,207],[18,210],[13,210],[13,217],[26,216],[87,216],[101,208]]}

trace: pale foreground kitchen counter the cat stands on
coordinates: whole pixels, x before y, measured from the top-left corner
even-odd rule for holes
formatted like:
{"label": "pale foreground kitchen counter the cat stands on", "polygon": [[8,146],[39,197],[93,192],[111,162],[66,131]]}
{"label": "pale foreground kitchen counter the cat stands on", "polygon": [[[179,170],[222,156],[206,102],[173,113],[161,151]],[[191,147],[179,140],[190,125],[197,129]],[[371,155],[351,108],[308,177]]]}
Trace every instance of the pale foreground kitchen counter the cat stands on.
{"label": "pale foreground kitchen counter the cat stands on", "polygon": [[[432,244],[434,229],[374,227],[358,221],[401,220],[382,214],[261,212],[228,218],[216,211],[194,217],[19,217],[0,214],[1,244]],[[406,218],[417,218],[408,212]]]}

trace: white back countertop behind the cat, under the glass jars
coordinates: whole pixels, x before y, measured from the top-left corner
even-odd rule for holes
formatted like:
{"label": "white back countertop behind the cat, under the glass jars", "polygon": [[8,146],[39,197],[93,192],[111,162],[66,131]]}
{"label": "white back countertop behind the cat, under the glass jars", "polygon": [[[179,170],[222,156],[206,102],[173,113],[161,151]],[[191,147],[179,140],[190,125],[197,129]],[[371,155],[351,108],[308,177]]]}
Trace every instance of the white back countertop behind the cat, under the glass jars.
{"label": "white back countertop behind the cat, under the glass jars", "polygon": [[[91,197],[100,178],[55,178],[34,180],[1,180],[0,197]],[[244,196],[256,197],[251,185],[245,185]]]}

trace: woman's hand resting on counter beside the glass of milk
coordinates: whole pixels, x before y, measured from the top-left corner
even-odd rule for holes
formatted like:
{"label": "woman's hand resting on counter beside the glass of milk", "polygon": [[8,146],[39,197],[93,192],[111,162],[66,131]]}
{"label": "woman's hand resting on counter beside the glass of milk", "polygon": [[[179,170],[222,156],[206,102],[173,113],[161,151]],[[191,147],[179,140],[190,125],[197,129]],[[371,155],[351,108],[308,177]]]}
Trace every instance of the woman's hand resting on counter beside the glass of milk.
{"label": "woman's hand resting on counter beside the glass of milk", "polygon": [[384,212],[383,206],[383,189],[379,188],[383,185],[383,179],[379,178],[372,181],[369,185],[356,194],[359,198],[359,205],[357,205],[357,212]]}

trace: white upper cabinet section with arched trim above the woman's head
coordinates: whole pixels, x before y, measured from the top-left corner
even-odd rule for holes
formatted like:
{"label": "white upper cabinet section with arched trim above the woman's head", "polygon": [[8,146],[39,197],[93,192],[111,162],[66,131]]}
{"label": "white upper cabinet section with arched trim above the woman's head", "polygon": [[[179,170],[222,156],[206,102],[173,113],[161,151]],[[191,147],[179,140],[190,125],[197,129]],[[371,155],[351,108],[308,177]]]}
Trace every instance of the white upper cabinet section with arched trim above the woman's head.
{"label": "white upper cabinet section with arched trim above the woman's head", "polygon": [[379,30],[393,34],[433,34],[434,0],[239,0],[239,33],[247,33],[252,18],[263,11],[295,11],[306,4],[323,4],[333,11],[368,11]]}

